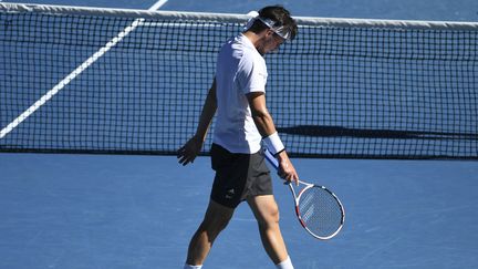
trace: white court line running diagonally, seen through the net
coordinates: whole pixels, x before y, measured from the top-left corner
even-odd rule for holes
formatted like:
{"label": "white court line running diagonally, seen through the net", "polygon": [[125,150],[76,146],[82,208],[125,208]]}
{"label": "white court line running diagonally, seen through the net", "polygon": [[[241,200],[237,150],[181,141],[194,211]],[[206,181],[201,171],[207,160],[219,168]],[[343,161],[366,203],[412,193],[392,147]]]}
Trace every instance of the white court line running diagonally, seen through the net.
{"label": "white court line running diagonally, seen through the net", "polygon": [[[1,0],[0,0],[1,1]],[[156,11],[163,7],[167,0],[159,0],[153,4],[148,11]],[[0,131],[0,139],[9,134],[13,128],[27,120],[31,114],[38,111],[42,105],[50,101],[54,95],[56,95],[63,87],[65,87],[72,80],[79,76],[83,71],[85,71],[90,65],[92,65],[96,60],[103,56],[107,51],[115,46],[119,41],[122,41],[126,35],[133,32],[137,27],[142,25],[144,19],[139,18],[133,21],[132,24],[126,27],[116,37],[110,40],[104,46],[97,50],[93,55],[86,59],[82,64],[80,64],[75,70],[73,70],[69,75],[61,80],[56,85],[54,85],[50,91],[48,91],[43,96],[41,96],[37,102],[34,102],[29,108],[21,113],[15,120],[9,123],[4,128]]]}

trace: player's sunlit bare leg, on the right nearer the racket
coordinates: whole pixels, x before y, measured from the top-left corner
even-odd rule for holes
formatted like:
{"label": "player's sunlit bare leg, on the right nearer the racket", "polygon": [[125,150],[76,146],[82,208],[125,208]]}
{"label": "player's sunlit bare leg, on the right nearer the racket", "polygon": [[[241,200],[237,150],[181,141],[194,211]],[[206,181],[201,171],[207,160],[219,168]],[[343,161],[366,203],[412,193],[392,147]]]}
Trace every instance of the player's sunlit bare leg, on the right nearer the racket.
{"label": "player's sunlit bare leg, on the right nearer the racket", "polygon": [[285,244],[279,227],[279,207],[272,195],[248,198],[259,225],[262,245],[274,265],[289,259]]}

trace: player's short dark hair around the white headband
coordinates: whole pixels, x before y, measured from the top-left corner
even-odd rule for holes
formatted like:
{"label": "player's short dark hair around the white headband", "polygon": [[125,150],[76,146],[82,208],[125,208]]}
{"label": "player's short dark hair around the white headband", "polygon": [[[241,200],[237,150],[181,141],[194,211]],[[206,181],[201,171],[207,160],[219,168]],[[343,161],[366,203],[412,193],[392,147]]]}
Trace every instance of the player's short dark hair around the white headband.
{"label": "player's short dark hair around the white headband", "polygon": [[[298,33],[298,27],[295,21],[290,15],[290,12],[282,6],[269,6],[259,10],[259,17],[267,18],[276,21],[273,27],[284,27],[290,33],[290,39],[293,40]],[[249,29],[252,32],[259,33],[266,29],[269,29],[260,20],[256,20],[252,27]]]}

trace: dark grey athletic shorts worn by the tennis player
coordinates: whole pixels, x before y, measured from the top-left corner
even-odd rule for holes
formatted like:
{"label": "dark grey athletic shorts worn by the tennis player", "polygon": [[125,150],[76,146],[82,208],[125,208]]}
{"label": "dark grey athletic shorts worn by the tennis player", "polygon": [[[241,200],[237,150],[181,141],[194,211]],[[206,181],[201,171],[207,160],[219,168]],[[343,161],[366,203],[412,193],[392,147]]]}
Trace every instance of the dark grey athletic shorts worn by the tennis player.
{"label": "dark grey athletic shorts worn by the tennis player", "polygon": [[216,170],[210,198],[229,208],[260,195],[272,195],[272,179],[260,153],[237,154],[212,144],[211,166]]}

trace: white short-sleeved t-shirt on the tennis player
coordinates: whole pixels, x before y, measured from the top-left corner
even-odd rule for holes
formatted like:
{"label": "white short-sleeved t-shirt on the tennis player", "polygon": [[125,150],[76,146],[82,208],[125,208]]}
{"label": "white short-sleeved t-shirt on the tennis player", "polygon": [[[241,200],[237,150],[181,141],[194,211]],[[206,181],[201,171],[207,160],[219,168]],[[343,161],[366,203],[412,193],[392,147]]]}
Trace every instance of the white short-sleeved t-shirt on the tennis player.
{"label": "white short-sleeved t-shirt on the tennis player", "polygon": [[222,45],[216,69],[217,121],[212,142],[231,153],[260,151],[262,139],[246,94],[266,92],[266,61],[243,34]]}

